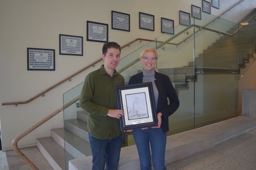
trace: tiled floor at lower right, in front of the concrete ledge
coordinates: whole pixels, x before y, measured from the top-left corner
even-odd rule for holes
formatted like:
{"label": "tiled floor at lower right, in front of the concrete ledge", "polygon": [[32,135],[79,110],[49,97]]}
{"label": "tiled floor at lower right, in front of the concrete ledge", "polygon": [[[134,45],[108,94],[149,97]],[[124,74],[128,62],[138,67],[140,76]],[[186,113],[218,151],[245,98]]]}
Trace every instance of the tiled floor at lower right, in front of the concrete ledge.
{"label": "tiled floor at lower right, in front of the concrete ledge", "polygon": [[256,129],[171,163],[168,170],[255,170]]}

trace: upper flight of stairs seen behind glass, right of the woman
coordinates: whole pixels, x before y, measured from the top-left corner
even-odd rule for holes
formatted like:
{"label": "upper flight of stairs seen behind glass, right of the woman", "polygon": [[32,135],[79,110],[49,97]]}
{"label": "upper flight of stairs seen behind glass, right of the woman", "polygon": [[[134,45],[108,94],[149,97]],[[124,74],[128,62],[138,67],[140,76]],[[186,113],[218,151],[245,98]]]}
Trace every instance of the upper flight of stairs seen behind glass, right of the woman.
{"label": "upper flight of stairs seen behind glass, right of the woman", "polygon": [[[256,9],[245,17],[251,18]],[[230,32],[234,32],[233,28]],[[238,61],[239,56],[239,61]],[[195,58],[195,72],[211,74],[241,74],[256,58],[256,19],[250,21],[249,25],[239,31],[238,37],[222,36],[215,43],[209,46]],[[158,69],[159,72],[169,75],[175,84],[176,90],[187,89],[189,81],[196,81],[194,78],[194,62],[187,66],[171,69]]]}

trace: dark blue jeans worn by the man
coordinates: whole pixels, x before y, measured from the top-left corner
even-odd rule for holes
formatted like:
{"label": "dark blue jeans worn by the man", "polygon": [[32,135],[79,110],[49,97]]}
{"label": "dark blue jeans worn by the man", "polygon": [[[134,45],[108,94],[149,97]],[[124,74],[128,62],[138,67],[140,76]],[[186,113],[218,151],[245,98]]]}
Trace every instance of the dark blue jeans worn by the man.
{"label": "dark blue jeans worn by the man", "polygon": [[92,170],[116,170],[118,167],[122,134],[114,139],[97,139],[89,133],[90,147],[92,150]]}

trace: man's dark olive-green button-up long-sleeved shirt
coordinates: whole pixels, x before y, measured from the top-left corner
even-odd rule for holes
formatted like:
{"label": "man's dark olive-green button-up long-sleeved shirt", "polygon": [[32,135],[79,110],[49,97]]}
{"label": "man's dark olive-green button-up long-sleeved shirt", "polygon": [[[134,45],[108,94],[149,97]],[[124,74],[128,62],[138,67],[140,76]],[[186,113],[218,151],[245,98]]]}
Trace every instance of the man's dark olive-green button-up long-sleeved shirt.
{"label": "man's dark olive-green button-up long-sleeved shirt", "polygon": [[80,95],[80,106],[87,112],[89,132],[98,139],[113,139],[121,134],[119,120],[107,116],[109,109],[118,109],[116,86],[124,85],[124,77],[116,70],[111,77],[103,65],[89,73]]}

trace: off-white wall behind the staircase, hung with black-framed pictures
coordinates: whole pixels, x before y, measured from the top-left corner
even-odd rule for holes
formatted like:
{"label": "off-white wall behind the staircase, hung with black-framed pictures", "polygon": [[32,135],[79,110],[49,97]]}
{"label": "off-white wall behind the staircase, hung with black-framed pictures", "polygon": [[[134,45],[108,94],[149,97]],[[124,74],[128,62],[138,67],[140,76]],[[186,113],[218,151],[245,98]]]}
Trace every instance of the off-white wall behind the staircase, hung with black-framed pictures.
{"label": "off-white wall behind the staircase, hung with black-framed pictures", "polygon": [[[210,2],[210,0],[209,0]],[[236,3],[238,0],[232,1]],[[255,8],[255,1],[245,0],[247,9]],[[161,35],[160,18],[179,24],[179,10],[191,12],[191,4],[201,7],[201,0],[1,0],[0,1],[0,103],[25,101],[49,88],[84,66],[98,60],[102,43],[86,41],[86,21],[107,23],[109,41],[121,46],[135,38],[154,39]],[[231,5],[220,1],[217,15]],[[111,29],[111,10],[131,15],[131,31]],[[155,16],[155,31],[139,29],[139,12]],[[59,34],[83,36],[83,56],[59,55]],[[28,71],[27,48],[55,49],[55,71]],[[89,71],[94,68],[89,69]],[[29,104],[18,107],[0,106],[0,125],[3,150],[11,148],[12,140],[46,115],[62,106],[62,94],[84,80],[86,72],[71,82],[65,82]],[[35,145],[36,138],[50,136],[50,129],[63,126],[60,113],[18,144],[20,147]]]}

